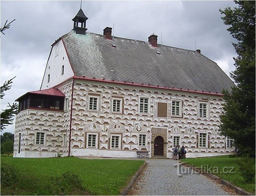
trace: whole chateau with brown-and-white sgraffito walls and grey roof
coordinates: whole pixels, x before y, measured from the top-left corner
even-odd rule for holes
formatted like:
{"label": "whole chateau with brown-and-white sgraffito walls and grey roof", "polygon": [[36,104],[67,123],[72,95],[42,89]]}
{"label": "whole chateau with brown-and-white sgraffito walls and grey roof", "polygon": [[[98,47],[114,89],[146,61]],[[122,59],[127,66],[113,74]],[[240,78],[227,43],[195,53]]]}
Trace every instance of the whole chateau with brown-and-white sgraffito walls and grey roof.
{"label": "whole chateau with brown-and-white sgraffito walls and grey roof", "polygon": [[38,91],[17,98],[14,157],[225,155],[219,135],[222,89],[234,83],[200,53],[87,31],[82,9],[73,30],[51,46]]}

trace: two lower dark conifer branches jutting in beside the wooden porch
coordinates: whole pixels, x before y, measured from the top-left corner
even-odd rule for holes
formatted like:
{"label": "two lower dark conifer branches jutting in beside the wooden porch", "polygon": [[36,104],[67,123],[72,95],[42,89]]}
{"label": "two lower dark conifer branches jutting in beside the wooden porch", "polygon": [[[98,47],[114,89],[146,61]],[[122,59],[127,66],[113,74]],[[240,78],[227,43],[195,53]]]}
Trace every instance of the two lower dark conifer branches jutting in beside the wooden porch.
{"label": "two lower dark conifer branches jutting in beside the wooden porch", "polygon": [[[16,77],[16,76],[15,76]],[[14,78],[15,78],[14,77]],[[1,99],[4,97],[5,95],[5,91],[9,90],[12,87],[12,80],[14,79],[10,79],[8,81],[5,81],[4,84],[1,86]],[[8,109],[5,109],[1,112],[1,131],[3,129],[6,128],[6,126],[8,125],[12,125],[13,124],[13,117],[14,114],[18,113],[18,103],[12,103],[12,105],[10,103],[8,103]]]}

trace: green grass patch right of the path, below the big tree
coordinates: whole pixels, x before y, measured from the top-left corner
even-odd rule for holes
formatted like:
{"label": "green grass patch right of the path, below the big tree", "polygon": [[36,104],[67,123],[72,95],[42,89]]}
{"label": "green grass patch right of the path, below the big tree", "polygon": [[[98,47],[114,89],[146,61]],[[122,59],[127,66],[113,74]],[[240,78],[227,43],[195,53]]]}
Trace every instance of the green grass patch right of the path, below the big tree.
{"label": "green grass patch right of the path, below the big tree", "polygon": [[[202,167],[207,167],[208,165],[208,168],[218,167],[218,173],[213,172],[213,169],[209,172],[219,176],[221,179],[227,180],[232,184],[239,186],[240,188],[246,191],[249,191],[250,193],[255,194],[255,178],[251,183],[244,182],[243,177],[238,172],[239,166],[237,164],[237,158],[229,158],[229,156],[216,156],[216,157],[203,157],[203,158],[187,158],[181,161],[182,162],[188,161],[187,164],[193,165],[196,167],[201,167],[201,165]],[[227,172],[231,169],[231,168],[225,168],[225,167],[234,167],[234,169],[231,171],[234,173],[225,174],[224,172]]]}

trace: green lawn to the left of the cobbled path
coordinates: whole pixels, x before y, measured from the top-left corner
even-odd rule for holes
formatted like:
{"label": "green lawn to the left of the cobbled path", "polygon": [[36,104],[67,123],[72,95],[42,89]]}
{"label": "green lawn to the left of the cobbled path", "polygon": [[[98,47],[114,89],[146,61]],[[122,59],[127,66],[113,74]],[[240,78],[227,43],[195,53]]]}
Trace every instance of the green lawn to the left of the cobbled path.
{"label": "green lawn to the left of the cobbled path", "polygon": [[[76,157],[1,157],[1,165],[12,165],[19,174],[19,182],[15,187],[6,188],[1,186],[1,195],[8,193],[16,195],[51,194],[47,190],[44,193],[40,191],[47,189],[45,184],[50,179],[59,177],[67,171],[79,176],[83,187],[89,194],[118,195],[143,163],[143,160],[87,160]],[[35,183],[36,187],[26,189],[26,186],[30,187],[31,183]]]}

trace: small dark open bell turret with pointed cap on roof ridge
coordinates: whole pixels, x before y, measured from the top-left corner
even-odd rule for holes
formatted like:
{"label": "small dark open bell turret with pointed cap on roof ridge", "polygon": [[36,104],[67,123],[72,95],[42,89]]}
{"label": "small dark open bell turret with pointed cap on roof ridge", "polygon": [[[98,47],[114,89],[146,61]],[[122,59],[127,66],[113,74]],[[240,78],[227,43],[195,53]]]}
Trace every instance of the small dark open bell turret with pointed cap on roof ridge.
{"label": "small dark open bell turret with pointed cap on roof ridge", "polygon": [[75,30],[77,34],[85,35],[85,31],[87,30],[85,28],[87,19],[88,18],[85,16],[83,10],[80,8],[76,16],[72,19],[72,21],[74,21],[73,30]]}

